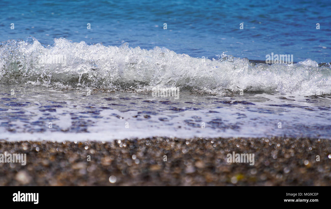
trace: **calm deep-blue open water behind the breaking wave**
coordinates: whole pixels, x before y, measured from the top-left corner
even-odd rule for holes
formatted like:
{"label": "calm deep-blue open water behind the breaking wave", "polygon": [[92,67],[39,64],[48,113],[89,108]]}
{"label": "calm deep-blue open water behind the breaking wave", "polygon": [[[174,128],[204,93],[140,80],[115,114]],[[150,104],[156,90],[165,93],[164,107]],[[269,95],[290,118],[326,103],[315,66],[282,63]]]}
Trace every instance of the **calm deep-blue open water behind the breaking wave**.
{"label": "calm deep-blue open water behind the breaking wave", "polygon": [[49,45],[60,37],[106,46],[124,41],[192,57],[213,58],[227,51],[265,60],[273,52],[293,54],[294,62],[310,58],[321,63],[331,61],[330,11],[330,1],[2,0],[0,41],[29,35]]}

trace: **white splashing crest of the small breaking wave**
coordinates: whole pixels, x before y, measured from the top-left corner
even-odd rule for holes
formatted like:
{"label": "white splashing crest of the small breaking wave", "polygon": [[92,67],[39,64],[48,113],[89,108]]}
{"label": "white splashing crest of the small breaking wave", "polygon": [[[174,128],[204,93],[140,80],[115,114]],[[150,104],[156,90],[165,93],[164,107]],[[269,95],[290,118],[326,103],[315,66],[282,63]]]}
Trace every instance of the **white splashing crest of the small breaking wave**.
{"label": "white splashing crest of the small breaking wave", "polygon": [[[73,43],[67,39],[54,42],[46,46],[33,37],[1,42],[0,83],[111,91],[179,87],[212,94],[241,90],[331,94],[330,66],[319,66],[310,59],[293,65],[268,65],[224,53],[211,60],[166,48],[130,48],[127,43],[117,47]],[[61,58],[54,62],[54,57]]]}

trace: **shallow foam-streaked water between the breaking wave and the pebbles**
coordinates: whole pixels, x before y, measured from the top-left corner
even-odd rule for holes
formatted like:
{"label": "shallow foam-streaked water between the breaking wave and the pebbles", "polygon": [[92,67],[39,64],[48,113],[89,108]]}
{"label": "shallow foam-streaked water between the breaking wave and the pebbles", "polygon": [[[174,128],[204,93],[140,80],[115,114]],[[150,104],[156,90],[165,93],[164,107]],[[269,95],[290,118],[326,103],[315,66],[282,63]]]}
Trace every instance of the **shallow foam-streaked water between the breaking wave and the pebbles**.
{"label": "shallow foam-streaked water between the breaking wave and the pebbles", "polygon": [[180,91],[175,99],[101,90],[89,95],[78,88],[7,84],[0,89],[0,138],[9,140],[331,136],[331,96]]}

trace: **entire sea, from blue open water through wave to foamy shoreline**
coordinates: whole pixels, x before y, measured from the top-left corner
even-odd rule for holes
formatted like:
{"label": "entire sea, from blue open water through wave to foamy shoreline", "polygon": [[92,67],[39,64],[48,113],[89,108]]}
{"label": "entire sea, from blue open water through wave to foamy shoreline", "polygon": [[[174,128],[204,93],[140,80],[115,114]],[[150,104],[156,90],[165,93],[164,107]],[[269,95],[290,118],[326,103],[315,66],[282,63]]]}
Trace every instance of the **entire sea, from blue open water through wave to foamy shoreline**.
{"label": "entire sea, from blue open water through wave to foamy shoreline", "polygon": [[[330,138],[330,9],[1,1],[0,138]],[[294,63],[265,64],[271,53]]]}

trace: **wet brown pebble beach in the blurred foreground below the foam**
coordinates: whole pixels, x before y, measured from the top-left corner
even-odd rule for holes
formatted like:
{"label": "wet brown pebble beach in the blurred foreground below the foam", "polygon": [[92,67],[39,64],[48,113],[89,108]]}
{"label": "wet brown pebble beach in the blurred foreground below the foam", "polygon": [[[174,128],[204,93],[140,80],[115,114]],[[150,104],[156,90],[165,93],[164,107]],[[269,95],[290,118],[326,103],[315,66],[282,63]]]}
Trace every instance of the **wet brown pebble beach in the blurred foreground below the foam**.
{"label": "wet brown pebble beach in the blurred foreground below the foam", "polygon": [[[331,186],[328,139],[1,140],[5,152],[27,162],[0,163],[0,186]],[[255,164],[227,162],[232,152]]]}

